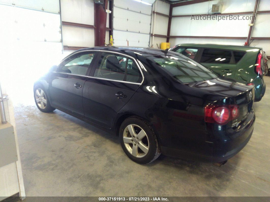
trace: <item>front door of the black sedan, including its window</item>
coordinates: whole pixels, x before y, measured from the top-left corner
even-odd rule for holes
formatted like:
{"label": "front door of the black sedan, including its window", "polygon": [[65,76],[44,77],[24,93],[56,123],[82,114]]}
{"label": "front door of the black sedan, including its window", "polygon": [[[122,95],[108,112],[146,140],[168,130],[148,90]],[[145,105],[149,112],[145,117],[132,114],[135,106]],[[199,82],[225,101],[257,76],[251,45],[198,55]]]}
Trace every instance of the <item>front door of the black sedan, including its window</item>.
{"label": "front door of the black sedan, including its window", "polygon": [[84,117],[82,91],[95,54],[90,51],[73,54],[52,73],[49,92],[53,106]]}

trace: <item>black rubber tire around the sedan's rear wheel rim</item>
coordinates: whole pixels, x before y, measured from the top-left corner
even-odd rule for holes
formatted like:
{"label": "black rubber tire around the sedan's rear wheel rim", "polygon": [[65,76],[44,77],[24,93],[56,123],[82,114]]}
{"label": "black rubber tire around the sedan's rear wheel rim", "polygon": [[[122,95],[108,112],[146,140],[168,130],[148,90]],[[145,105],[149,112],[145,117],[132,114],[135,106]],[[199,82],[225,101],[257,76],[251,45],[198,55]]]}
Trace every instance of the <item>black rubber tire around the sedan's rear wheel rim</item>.
{"label": "black rubber tire around the sedan's rear wheel rim", "polygon": [[[134,126],[134,131],[140,132],[141,129],[143,129],[143,131],[146,133],[146,136],[144,137],[144,139],[136,141],[136,142],[138,142],[137,143],[138,144],[137,147],[139,147],[138,150],[139,150],[139,152],[141,152],[141,153],[138,152],[139,155],[141,155],[141,156],[145,155],[141,158],[133,156],[130,153],[130,151],[127,149],[128,146],[127,147],[125,146],[125,145],[130,145],[130,149],[133,149],[133,146],[136,145],[135,141],[134,141],[136,138],[134,138],[134,140],[131,140],[132,143],[126,143],[126,144],[124,143],[124,135],[126,135],[126,134],[128,134],[128,136],[125,136],[125,138],[133,139],[132,135],[130,134],[129,130],[127,129],[127,126],[129,126],[129,125],[137,125],[140,128],[137,126]],[[138,135],[139,132],[138,133],[135,132],[135,133],[137,133],[137,135]],[[120,138],[121,146],[122,146],[124,152],[126,153],[126,155],[136,163],[140,163],[140,164],[151,163],[152,161],[156,160],[158,158],[158,156],[160,156],[160,154],[161,154],[160,146],[158,144],[156,133],[154,132],[153,128],[145,120],[143,120],[140,117],[132,116],[132,117],[129,117],[126,120],[124,120],[120,126],[120,129],[119,129],[119,138]],[[141,141],[145,141],[145,140],[146,140],[145,145],[148,146],[147,153],[143,152],[143,150],[140,149],[140,146],[142,146],[143,144],[139,145],[139,143]],[[132,148],[131,148],[131,146],[132,146]],[[137,156],[139,156],[139,155],[137,155]]]}

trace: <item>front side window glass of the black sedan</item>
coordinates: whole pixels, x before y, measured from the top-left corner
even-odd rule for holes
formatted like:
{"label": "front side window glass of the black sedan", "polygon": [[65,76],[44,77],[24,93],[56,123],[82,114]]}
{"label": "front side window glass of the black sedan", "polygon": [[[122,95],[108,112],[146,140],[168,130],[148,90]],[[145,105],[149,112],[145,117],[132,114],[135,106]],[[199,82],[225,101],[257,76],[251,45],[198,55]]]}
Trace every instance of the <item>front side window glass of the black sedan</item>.
{"label": "front side window glass of the black sedan", "polygon": [[71,58],[68,58],[56,71],[86,76],[93,57],[94,53],[76,55],[73,59],[71,56]]}

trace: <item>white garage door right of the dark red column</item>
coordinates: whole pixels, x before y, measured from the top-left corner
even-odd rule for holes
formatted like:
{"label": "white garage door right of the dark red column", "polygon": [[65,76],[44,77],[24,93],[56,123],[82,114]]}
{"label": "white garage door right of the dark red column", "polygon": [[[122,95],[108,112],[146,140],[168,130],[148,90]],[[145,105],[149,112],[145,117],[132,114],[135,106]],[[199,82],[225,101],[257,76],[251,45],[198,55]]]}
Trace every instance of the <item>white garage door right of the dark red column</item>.
{"label": "white garage door right of the dark red column", "polygon": [[114,45],[126,46],[129,41],[129,46],[149,47],[151,12],[151,4],[134,0],[114,0]]}

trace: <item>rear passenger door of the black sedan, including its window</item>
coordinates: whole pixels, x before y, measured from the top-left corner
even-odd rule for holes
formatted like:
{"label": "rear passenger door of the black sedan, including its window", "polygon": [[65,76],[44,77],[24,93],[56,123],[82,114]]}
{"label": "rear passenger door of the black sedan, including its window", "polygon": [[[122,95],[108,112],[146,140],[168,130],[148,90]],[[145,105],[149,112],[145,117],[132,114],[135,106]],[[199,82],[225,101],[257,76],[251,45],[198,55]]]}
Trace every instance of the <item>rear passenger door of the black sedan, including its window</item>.
{"label": "rear passenger door of the black sedan, including its window", "polygon": [[111,128],[115,115],[142,81],[142,73],[134,58],[120,53],[101,52],[83,87],[85,118]]}

